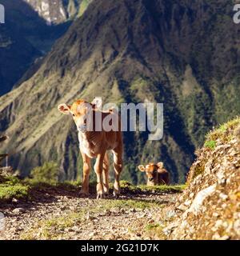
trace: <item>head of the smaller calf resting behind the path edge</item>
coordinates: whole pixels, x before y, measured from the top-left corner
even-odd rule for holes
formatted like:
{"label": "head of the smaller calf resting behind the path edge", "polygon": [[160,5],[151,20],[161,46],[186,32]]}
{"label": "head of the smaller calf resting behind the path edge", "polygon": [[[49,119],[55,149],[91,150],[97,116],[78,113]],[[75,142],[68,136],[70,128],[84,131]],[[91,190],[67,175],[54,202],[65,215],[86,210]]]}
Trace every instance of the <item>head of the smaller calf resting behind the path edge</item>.
{"label": "head of the smaller calf resting behind the path edge", "polygon": [[150,162],[146,166],[138,166],[139,170],[141,170],[142,172],[146,172],[148,182],[151,183],[158,182],[158,173],[162,172],[162,168],[163,162],[158,162],[157,164]]}

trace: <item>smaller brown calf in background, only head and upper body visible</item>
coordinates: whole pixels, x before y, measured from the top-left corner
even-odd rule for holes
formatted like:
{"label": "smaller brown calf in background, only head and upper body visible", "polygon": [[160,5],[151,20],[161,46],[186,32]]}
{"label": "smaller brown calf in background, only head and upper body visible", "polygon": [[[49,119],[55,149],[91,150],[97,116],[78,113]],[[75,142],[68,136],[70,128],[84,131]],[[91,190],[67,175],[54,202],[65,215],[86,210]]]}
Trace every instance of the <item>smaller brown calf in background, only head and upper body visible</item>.
{"label": "smaller brown calf in background, only head and upper body visible", "polygon": [[163,168],[163,162],[157,164],[150,162],[146,166],[138,166],[138,169],[146,172],[147,186],[169,185],[170,183],[170,174]]}

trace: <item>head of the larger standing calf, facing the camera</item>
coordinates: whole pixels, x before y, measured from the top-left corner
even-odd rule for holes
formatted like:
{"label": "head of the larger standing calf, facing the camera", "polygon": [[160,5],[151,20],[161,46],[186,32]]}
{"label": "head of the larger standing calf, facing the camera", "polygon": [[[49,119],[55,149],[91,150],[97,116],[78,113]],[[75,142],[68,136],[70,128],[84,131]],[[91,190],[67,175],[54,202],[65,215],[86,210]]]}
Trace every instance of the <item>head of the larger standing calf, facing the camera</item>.
{"label": "head of the larger standing calf, facing the camera", "polygon": [[93,126],[91,123],[93,118],[93,110],[98,109],[102,102],[94,99],[93,102],[88,103],[82,99],[77,100],[73,105],[60,104],[58,105],[58,110],[62,114],[71,114],[74,118],[74,122],[78,128],[78,131],[85,133],[87,130],[90,130]]}

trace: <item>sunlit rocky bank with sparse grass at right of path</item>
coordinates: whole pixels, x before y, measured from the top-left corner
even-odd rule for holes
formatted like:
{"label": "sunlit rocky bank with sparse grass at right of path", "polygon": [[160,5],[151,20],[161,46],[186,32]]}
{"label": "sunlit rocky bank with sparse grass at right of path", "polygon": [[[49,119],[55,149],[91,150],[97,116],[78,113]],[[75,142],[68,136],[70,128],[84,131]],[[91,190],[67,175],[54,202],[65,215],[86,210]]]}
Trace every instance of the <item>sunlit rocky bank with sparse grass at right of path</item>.
{"label": "sunlit rocky bank with sparse grass at right of path", "polygon": [[211,132],[176,200],[170,239],[240,238],[240,118]]}

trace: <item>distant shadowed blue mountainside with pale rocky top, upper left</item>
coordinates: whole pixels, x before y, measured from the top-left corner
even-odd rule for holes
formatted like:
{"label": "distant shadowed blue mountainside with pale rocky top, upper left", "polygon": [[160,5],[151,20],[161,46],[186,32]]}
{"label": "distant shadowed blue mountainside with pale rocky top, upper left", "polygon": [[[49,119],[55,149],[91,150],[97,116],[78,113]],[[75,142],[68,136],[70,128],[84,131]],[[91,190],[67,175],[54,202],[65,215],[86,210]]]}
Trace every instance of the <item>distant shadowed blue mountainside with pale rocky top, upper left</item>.
{"label": "distant shadowed blue mountainside with pale rocky top, upper left", "polygon": [[0,95],[38,70],[42,56],[66,32],[77,14],[83,14],[89,2],[1,1],[6,23],[0,26]]}

